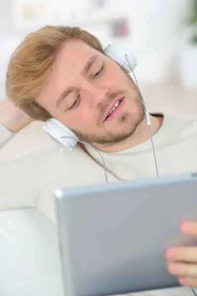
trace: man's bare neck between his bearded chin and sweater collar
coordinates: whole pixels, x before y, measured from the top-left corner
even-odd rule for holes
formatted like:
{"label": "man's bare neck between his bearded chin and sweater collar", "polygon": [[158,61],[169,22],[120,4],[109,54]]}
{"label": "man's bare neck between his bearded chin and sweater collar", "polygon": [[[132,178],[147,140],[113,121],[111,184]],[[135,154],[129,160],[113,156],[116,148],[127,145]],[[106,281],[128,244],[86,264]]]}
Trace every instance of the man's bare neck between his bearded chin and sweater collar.
{"label": "man's bare neck between his bearded chin and sweater collar", "polygon": [[[163,116],[150,115],[152,135],[155,135],[163,123]],[[119,144],[108,147],[96,147],[103,152],[119,152],[137,146],[150,139],[150,131],[146,123],[146,118],[140,123],[136,131],[130,138]]]}

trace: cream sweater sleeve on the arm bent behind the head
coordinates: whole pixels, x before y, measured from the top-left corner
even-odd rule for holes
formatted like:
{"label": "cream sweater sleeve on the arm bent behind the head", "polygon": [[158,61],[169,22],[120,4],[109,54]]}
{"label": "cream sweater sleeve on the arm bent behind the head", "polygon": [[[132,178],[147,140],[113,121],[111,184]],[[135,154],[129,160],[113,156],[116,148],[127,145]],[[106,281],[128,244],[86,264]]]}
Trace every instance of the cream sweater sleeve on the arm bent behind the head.
{"label": "cream sweater sleeve on the arm bent behind the head", "polygon": [[[12,133],[0,127],[1,147],[12,137]],[[0,161],[0,210],[37,206],[59,151],[56,147],[49,144]]]}

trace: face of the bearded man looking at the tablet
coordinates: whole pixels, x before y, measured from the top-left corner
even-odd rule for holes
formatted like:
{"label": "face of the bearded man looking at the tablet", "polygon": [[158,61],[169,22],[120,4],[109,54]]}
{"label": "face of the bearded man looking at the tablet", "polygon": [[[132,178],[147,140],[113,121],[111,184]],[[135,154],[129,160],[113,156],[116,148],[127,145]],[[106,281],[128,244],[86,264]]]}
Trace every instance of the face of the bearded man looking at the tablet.
{"label": "face of the bearded man looking at the tablet", "polygon": [[81,40],[64,44],[36,102],[80,139],[103,146],[126,140],[144,119],[130,76]]}

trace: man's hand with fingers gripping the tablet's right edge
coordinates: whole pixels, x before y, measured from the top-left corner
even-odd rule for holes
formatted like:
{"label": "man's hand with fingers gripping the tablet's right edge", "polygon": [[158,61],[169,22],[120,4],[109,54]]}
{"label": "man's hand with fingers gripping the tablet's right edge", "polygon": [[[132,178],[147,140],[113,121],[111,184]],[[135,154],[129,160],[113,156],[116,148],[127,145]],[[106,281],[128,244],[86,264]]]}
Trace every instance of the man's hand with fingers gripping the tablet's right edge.
{"label": "man's hand with fingers gripping the tablet's right edge", "polygon": [[[184,222],[180,230],[186,235],[197,237],[197,222]],[[165,257],[169,260],[168,272],[178,276],[180,285],[197,287],[197,246],[169,248]]]}

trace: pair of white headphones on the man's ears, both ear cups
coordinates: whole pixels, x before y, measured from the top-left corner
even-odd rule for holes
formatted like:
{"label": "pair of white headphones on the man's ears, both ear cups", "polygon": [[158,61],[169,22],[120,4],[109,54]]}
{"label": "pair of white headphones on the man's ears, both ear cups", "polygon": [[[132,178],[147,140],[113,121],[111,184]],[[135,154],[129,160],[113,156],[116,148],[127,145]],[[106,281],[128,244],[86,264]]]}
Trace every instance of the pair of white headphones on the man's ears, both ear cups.
{"label": "pair of white headphones on the man's ears, both ear cups", "polygon": [[[107,45],[104,48],[104,53],[128,73],[133,72],[137,66],[136,58],[129,51],[115,43]],[[67,150],[71,150],[79,141],[71,129],[55,118],[50,118],[43,126],[43,129],[52,140]]]}

